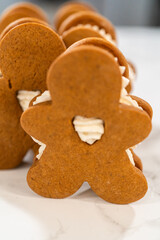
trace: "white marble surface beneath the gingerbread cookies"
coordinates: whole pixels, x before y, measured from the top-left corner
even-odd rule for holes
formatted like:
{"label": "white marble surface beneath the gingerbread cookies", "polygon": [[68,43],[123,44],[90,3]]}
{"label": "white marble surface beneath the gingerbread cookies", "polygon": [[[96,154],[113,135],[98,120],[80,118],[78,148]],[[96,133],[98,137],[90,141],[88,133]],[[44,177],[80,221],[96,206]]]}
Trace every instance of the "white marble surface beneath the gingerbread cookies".
{"label": "white marble surface beneath the gingerbread cookies", "polygon": [[135,94],[154,108],[153,131],[138,146],[149,182],[136,203],[115,205],[84,184],[63,200],[34,194],[25,177],[30,166],[0,172],[0,239],[2,240],[159,240],[160,239],[160,29],[118,30],[120,48],[138,69]]}

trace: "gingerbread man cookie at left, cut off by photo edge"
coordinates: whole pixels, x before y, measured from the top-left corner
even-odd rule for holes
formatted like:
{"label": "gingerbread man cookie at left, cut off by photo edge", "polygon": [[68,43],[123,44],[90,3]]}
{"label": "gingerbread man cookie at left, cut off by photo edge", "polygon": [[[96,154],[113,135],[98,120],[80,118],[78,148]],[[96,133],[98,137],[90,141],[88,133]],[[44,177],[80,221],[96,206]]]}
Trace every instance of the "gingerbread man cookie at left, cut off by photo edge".
{"label": "gingerbread man cookie at left, cut off by photo edge", "polygon": [[41,21],[19,21],[0,41],[0,169],[18,166],[33,146],[20,126],[20,116],[47,88],[47,71],[65,51],[61,38]]}

